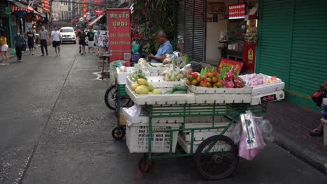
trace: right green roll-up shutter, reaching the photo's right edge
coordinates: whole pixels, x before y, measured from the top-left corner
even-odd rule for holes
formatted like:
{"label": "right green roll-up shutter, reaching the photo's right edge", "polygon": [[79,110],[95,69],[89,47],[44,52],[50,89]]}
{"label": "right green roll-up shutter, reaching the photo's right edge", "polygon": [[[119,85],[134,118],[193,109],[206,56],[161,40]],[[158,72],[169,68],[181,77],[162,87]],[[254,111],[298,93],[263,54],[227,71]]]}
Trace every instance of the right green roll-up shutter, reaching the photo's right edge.
{"label": "right green roll-up shutter, reaching the photo's right edge", "polygon": [[327,79],[327,1],[297,0],[289,90],[310,96]]}

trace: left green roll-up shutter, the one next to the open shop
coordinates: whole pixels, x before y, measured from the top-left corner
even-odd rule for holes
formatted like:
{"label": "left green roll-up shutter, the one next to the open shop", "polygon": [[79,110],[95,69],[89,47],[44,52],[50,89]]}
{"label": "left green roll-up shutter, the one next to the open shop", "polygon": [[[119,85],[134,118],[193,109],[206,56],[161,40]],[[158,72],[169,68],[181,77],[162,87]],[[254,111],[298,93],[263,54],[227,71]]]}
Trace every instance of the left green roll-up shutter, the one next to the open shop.
{"label": "left green roll-up shutter, the one next to the open shop", "polygon": [[259,45],[256,71],[288,81],[291,41],[290,0],[263,0],[259,7]]}

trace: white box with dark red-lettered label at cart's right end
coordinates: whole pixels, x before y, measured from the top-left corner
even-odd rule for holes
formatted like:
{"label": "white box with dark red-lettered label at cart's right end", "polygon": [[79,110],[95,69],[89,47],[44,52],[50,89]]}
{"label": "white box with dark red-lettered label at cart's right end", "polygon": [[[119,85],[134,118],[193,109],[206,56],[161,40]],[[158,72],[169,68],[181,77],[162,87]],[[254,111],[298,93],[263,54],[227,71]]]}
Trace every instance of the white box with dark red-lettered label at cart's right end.
{"label": "white box with dark red-lettered label at cart's right end", "polygon": [[283,100],[285,98],[284,91],[275,91],[273,93],[266,93],[252,96],[251,105],[259,105],[266,102],[274,102],[276,100]]}

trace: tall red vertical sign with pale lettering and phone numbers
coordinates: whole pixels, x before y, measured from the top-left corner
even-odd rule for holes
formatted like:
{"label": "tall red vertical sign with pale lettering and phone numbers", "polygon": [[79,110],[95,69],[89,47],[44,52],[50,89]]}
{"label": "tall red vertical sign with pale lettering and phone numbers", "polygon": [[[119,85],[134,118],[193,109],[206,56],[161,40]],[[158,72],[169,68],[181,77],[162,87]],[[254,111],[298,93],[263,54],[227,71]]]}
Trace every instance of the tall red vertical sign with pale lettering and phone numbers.
{"label": "tall red vertical sign with pale lettering and phone numbers", "polygon": [[131,10],[108,9],[110,61],[131,59]]}

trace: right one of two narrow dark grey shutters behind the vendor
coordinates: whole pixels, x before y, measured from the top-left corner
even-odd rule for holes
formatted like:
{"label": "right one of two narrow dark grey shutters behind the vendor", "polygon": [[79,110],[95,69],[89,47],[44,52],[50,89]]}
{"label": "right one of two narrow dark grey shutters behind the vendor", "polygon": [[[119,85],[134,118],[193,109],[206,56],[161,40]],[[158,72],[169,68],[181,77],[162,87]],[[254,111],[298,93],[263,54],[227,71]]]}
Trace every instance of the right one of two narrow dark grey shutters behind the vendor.
{"label": "right one of two narrow dark grey shutters behind the vendor", "polygon": [[194,0],[194,35],[193,35],[193,59],[203,61],[204,29],[203,1]]}

